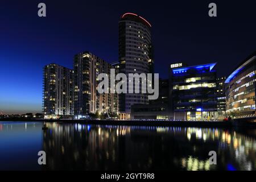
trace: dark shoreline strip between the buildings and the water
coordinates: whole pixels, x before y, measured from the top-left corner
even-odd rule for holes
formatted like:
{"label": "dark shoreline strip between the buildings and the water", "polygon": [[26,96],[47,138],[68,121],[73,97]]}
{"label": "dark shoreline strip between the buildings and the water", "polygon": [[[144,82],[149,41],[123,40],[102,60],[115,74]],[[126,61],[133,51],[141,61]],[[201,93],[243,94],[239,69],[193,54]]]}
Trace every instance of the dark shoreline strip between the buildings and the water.
{"label": "dark shoreline strip between the buildings and the water", "polygon": [[246,127],[256,128],[255,122],[244,119],[236,121],[122,121],[122,120],[76,120],[76,119],[0,119],[0,121],[13,122],[63,122],[63,123],[83,123],[89,125],[120,125],[120,126],[177,126],[177,127]]}

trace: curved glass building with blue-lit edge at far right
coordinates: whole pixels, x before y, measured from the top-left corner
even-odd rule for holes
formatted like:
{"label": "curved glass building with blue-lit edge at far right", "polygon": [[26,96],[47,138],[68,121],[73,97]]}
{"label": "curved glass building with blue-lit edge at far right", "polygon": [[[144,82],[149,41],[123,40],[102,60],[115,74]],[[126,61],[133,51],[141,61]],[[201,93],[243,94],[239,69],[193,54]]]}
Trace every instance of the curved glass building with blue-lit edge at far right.
{"label": "curved glass building with blue-lit edge at far right", "polygon": [[233,118],[255,117],[256,52],[226,79],[226,114]]}

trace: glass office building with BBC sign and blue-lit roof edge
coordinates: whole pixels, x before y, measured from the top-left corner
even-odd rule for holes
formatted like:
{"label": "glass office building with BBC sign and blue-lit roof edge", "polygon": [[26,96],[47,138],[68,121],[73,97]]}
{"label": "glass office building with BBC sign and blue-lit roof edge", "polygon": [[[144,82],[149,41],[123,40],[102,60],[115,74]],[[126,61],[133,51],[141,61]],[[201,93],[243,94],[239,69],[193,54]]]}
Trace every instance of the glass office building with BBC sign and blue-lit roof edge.
{"label": "glass office building with BBC sign and blue-lit roof edge", "polygon": [[171,68],[170,98],[174,119],[217,120],[215,65]]}

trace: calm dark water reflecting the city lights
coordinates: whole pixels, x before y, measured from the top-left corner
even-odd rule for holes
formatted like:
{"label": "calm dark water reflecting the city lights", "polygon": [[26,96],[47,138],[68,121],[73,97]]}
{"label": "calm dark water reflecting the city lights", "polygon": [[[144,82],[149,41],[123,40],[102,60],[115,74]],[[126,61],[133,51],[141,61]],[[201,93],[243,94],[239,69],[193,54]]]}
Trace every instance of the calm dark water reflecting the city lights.
{"label": "calm dark water reflecting the city lights", "polygon": [[[0,122],[0,170],[255,170],[256,130]],[[38,165],[38,151],[47,165]],[[210,165],[208,152],[217,152]]]}

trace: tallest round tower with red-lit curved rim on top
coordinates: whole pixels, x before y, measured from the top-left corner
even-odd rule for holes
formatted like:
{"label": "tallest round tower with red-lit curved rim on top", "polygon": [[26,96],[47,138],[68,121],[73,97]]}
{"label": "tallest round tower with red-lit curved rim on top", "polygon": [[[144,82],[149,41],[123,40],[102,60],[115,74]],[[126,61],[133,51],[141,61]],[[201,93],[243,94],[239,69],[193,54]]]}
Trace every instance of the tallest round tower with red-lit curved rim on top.
{"label": "tallest round tower with red-lit curved rim on top", "polygon": [[[129,73],[152,72],[151,24],[146,19],[134,13],[123,14],[119,20],[118,46],[119,73],[125,73],[128,78]],[[122,118],[130,118],[131,106],[134,104],[148,104],[147,94],[119,95]]]}

